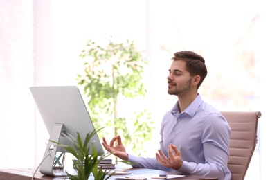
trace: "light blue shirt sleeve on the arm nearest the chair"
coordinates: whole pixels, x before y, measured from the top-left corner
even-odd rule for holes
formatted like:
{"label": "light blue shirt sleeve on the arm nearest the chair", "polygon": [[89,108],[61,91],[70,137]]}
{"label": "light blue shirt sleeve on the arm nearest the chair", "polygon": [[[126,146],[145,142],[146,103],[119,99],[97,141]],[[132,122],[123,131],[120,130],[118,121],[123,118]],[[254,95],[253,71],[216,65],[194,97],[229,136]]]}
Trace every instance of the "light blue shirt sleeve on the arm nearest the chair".
{"label": "light blue shirt sleeve on the arm nearest the chair", "polygon": [[206,175],[224,179],[228,163],[231,128],[219,114],[206,116],[201,128],[205,163],[183,161],[179,171],[186,174]]}

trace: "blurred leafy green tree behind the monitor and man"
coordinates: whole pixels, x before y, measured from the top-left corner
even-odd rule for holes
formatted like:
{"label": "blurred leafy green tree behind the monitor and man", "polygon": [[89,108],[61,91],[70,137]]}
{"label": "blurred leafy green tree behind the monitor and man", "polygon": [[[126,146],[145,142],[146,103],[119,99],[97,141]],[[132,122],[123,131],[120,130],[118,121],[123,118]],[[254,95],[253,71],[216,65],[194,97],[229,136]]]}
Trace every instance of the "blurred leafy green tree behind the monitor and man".
{"label": "blurred leafy green tree behind the monitor and man", "polygon": [[[95,126],[104,126],[109,129],[110,136],[121,134],[123,143],[131,141],[131,134],[138,134],[136,142],[149,140],[152,135],[152,122],[146,110],[134,111],[132,118],[120,116],[118,113],[119,98],[125,100],[145,96],[143,75],[147,62],[141,53],[136,51],[134,42],[117,44],[109,41],[102,47],[89,40],[80,57],[84,60],[84,73],[78,75],[78,84],[84,87],[87,96],[91,119]],[[127,109],[136,109],[128,105]],[[147,119],[147,123],[145,123]],[[133,132],[131,127],[133,128]],[[138,133],[140,132],[140,133]],[[129,134],[130,133],[130,134]],[[105,136],[105,134],[100,134]],[[138,144],[132,150],[138,151]]]}

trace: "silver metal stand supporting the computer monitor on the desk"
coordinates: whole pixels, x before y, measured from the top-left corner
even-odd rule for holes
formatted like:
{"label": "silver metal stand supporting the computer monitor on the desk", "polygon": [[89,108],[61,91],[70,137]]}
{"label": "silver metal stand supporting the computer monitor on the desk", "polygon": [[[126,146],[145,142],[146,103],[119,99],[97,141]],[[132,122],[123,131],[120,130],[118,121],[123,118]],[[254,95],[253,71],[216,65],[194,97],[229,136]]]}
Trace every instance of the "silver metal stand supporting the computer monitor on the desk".
{"label": "silver metal stand supporting the computer monitor on the desk", "polygon": [[43,156],[43,162],[40,165],[39,171],[42,174],[53,177],[66,177],[67,175],[64,170],[64,152],[57,152],[58,146],[55,143],[51,142],[55,141],[59,143],[63,127],[63,124],[55,123],[55,125],[53,125],[50,140],[48,141]]}

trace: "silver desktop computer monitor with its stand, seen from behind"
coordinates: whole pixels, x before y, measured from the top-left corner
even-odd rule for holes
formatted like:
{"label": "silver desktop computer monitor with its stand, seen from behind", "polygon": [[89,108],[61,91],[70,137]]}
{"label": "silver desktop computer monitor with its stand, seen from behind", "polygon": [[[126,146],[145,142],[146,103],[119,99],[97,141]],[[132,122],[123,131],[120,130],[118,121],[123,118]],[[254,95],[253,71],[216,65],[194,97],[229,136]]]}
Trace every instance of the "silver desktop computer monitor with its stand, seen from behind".
{"label": "silver desktop computer monitor with its stand, seen from behind", "polygon": [[[30,87],[30,91],[50,136],[44,153],[44,162],[40,165],[40,172],[54,177],[66,176],[64,171],[54,170],[56,153],[65,152],[65,150],[63,147],[55,146],[55,143],[51,141],[71,145],[71,142],[61,133],[71,134],[77,138],[78,132],[84,141],[86,134],[96,131],[80,90],[76,86],[45,86]],[[98,134],[95,134],[91,141],[98,153],[105,154]],[[53,153],[48,156],[51,150]],[[92,148],[89,154],[92,154]]]}

